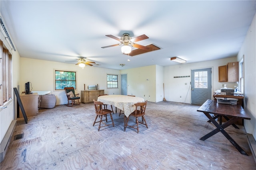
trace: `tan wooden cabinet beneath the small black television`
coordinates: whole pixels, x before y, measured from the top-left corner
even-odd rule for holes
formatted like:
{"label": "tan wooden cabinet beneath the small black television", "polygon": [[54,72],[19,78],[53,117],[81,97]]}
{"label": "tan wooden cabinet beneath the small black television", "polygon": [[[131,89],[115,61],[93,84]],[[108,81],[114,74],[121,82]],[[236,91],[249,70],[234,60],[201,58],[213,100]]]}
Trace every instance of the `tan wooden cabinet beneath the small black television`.
{"label": "tan wooden cabinet beneath the small black television", "polygon": [[[20,100],[27,116],[38,114],[38,93],[20,94]],[[19,117],[23,117],[21,109]]]}

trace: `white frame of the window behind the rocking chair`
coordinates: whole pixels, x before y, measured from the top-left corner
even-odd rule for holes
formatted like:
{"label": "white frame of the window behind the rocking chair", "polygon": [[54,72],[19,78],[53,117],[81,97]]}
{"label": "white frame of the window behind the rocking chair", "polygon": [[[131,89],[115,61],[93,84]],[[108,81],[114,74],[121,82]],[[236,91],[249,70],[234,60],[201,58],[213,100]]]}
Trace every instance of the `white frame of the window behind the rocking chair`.
{"label": "white frame of the window behind the rocking chair", "polygon": [[[71,82],[74,82],[73,83],[70,83],[71,85],[68,85],[68,84],[64,84],[63,85],[63,89],[56,89],[56,81],[59,81],[59,79],[56,79],[56,72],[59,71],[59,72],[70,72],[70,73],[74,73],[75,74],[75,80],[69,80],[67,78],[65,79],[62,79],[62,81],[71,81]],[[64,87],[74,87],[74,90],[77,89],[77,71],[74,71],[74,70],[62,70],[62,69],[54,69],[54,91],[60,91],[60,90],[64,90]]]}

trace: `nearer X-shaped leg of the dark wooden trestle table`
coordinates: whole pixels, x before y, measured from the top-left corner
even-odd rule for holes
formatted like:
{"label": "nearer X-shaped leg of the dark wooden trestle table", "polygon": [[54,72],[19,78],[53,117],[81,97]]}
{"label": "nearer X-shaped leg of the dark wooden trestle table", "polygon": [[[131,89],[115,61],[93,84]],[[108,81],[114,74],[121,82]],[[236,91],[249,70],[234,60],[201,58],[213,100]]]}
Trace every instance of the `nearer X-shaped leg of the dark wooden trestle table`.
{"label": "nearer X-shaped leg of the dark wooden trestle table", "polygon": [[217,121],[215,121],[215,119],[213,119],[213,117],[207,113],[204,112],[204,114],[206,115],[206,117],[208,117],[208,119],[210,119],[210,121],[217,127],[216,129],[214,129],[213,131],[211,131],[210,133],[204,135],[203,137],[200,138],[200,140],[204,141],[206,139],[208,139],[209,137],[215,135],[218,132],[221,132],[227,139],[228,141],[230,141],[230,143],[232,143],[232,145],[243,155],[248,156],[248,154],[238,145],[238,143],[236,143],[236,141],[234,141],[234,139],[228,135],[228,133],[224,130],[226,127],[234,124],[234,122],[236,122],[238,119],[233,117],[232,119],[229,119],[228,121],[226,121],[223,125],[219,125]]}

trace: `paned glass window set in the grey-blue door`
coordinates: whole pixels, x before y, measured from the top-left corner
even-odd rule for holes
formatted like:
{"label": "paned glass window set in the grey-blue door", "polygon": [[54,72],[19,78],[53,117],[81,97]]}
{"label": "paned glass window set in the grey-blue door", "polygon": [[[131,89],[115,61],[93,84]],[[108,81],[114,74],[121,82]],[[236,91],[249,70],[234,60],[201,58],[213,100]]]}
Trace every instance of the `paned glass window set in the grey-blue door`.
{"label": "paned glass window set in the grey-blue door", "polygon": [[207,71],[196,71],[194,77],[194,88],[208,88]]}

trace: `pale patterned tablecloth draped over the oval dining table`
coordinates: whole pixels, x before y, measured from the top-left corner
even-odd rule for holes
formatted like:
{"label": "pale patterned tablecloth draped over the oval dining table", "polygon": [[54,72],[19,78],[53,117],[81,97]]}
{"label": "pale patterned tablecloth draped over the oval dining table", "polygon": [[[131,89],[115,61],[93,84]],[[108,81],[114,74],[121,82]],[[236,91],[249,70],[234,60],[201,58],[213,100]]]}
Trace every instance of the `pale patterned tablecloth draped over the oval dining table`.
{"label": "pale patterned tablecloth draped over the oval dining table", "polygon": [[125,95],[104,95],[99,96],[98,101],[103,102],[104,104],[109,104],[117,107],[124,111],[124,115],[128,117],[135,109],[134,104],[138,102],[144,102],[143,98],[134,97],[134,96],[125,96]]}

